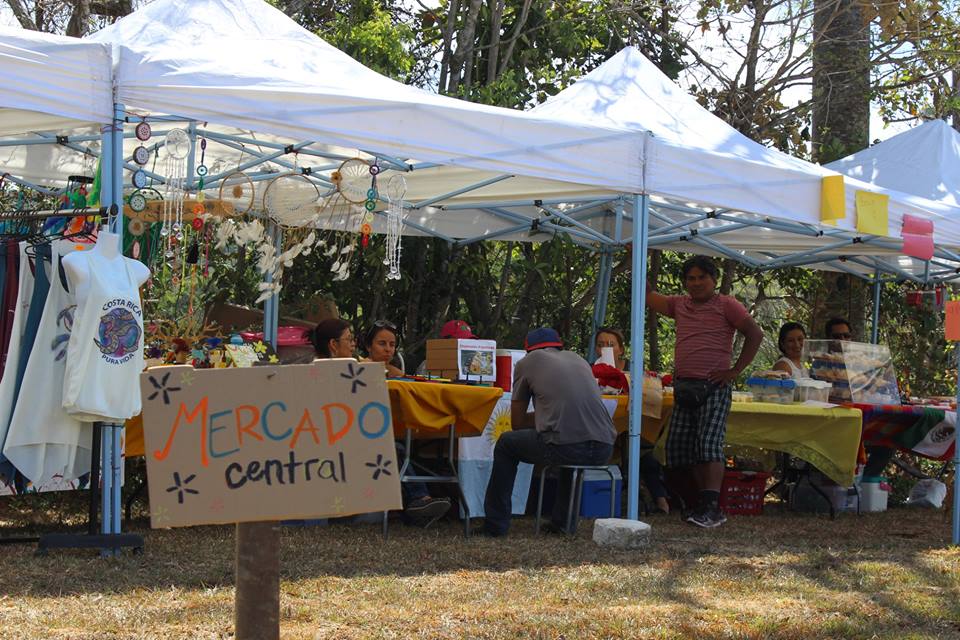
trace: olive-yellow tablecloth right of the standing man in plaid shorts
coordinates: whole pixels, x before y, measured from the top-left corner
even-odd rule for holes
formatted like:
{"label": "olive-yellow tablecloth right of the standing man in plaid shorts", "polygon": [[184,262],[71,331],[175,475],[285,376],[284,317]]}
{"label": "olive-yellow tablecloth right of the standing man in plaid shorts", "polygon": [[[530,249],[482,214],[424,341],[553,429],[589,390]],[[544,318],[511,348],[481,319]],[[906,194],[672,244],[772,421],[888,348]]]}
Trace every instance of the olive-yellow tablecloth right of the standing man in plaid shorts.
{"label": "olive-yellow tablecloth right of the standing man in plaid shorts", "polygon": [[[654,449],[661,461],[672,411],[672,400],[665,401],[664,428]],[[846,407],[824,409],[803,404],[734,402],[727,420],[726,442],[789,453],[811,463],[837,484],[848,487],[853,484],[856,472],[862,420],[859,409]],[[646,421],[655,422],[644,417]],[[642,430],[647,433],[646,425]]]}

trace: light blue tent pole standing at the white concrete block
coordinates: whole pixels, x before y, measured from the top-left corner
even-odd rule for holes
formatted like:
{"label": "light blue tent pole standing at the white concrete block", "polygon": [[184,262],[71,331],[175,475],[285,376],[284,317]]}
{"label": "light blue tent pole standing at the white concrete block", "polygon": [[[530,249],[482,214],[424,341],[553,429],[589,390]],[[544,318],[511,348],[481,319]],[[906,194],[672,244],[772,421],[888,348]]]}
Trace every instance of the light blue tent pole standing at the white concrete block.
{"label": "light blue tent pole standing at the white concrete block", "polygon": [[633,273],[630,286],[630,431],[627,517],[640,517],[640,421],[643,414],[643,327],[647,304],[647,226],[650,196],[633,197]]}

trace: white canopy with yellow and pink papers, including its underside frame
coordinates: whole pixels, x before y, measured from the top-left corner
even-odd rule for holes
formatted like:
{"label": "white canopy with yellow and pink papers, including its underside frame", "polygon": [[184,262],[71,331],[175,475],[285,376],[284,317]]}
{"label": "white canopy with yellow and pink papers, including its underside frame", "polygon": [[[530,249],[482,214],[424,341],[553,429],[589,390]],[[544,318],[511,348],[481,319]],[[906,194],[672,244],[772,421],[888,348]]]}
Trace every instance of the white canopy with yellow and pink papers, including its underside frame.
{"label": "white canopy with yellow and pink papers, including its underside frame", "polygon": [[[911,195],[914,191],[847,179],[846,219],[821,224],[821,180],[836,175],[833,169],[747,138],[634,48],[624,49],[532,112],[652,134],[644,182],[653,196],[651,246],[731,257],[763,269],[803,265],[864,277],[879,270],[921,280],[930,277],[929,265],[903,256],[897,240],[903,215],[909,213],[934,220],[941,277],[957,276],[953,249],[960,248],[960,218],[940,203]],[[688,150],[682,164],[673,161],[681,148]],[[689,153],[691,148],[699,153]],[[676,170],[665,171],[663,164]],[[887,238],[856,231],[857,190],[890,196]],[[691,205],[692,200],[701,205]],[[704,216],[704,204],[715,216]]]}

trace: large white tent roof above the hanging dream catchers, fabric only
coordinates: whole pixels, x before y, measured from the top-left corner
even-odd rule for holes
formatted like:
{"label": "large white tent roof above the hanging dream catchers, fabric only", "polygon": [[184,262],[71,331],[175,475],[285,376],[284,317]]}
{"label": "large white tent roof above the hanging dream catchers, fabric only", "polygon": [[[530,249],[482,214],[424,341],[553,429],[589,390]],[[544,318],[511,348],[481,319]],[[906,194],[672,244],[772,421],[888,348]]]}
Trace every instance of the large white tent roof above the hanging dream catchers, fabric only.
{"label": "large white tent roof above the hanging dream catchers, fabric only", "polygon": [[117,99],[404,159],[635,192],[640,136],[440,96],[386,78],[262,0],[157,0],[111,44]]}

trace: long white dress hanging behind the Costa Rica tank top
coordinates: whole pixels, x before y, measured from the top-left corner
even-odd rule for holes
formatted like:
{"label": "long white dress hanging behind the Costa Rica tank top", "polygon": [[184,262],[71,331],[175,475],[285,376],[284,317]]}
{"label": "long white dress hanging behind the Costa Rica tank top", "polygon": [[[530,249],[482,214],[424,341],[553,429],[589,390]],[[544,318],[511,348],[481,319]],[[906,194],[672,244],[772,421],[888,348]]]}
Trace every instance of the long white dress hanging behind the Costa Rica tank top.
{"label": "long white dress hanging behind the Costa Rica tank top", "polygon": [[73,246],[68,241],[53,245],[50,293],[3,446],[3,455],[35,486],[76,480],[90,471],[93,425],[70,416],[58,402],[76,309],[61,282],[60,252]]}

